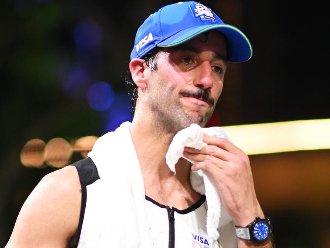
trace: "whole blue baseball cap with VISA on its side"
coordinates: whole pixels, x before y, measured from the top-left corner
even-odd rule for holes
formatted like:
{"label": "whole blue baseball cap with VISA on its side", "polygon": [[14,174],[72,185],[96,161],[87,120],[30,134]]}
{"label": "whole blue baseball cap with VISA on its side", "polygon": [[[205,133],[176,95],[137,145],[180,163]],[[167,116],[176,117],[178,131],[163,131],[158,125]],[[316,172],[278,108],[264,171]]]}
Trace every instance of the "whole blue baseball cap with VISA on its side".
{"label": "whole blue baseball cap with VISA on its side", "polygon": [[155,47],[172,47],[208,31],[218,30],[227,42],[227,59],[244,62],[252,47],[241,30],[225,24],[210,8],[189,1],[162,7],[139,27],[130,59],[141,58]]}

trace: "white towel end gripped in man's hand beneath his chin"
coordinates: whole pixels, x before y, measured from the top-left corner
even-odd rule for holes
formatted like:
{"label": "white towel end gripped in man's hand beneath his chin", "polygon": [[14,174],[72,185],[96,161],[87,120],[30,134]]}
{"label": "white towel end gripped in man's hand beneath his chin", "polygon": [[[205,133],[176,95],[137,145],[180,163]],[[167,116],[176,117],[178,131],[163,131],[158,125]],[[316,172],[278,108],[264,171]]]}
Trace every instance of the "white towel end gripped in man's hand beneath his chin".
{"label": "white towel end gripped in man's hand beneath his chin", "polygon": [[[197,124],[191,124],[190,127],[179,131],[173,138],[170,144],[169,150],[166,153],[166,163],[169,168],[175,173],[175,164],[180,158],[185,158],[183,156],[183,149],[185,146],[192,147],[195,149],[201,149],[206,143],[203,142],[203,133],[215,136],[223,137],[230,141],[229,137],[220,127],[212,128],[201,128]],[[231,141],[230,141],[231,142]],[[192,164],[191,161],[185,158]],[[203,171],[191,171],[190,181],[192,188],[206,196],[208,210],[207,210],[207,233],[208,236],[216,240],[219,237],[217,229],[220,227],[220,217],[221,217],[221,200],[218,195],[218,191],[213,185],[212,179],[204,174]]]}

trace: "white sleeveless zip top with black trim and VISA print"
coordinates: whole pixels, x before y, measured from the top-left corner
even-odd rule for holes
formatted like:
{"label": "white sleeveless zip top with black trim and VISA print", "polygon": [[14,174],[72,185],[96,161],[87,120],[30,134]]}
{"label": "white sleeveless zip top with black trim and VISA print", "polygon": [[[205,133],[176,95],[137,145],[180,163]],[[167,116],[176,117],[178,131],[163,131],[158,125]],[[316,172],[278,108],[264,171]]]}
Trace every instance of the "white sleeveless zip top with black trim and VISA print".
{"label": "white sleeveless zip top with black trim and VISA print", "polygon": [[[95,164],[90,158],[73,164],[79,174],[82,187],[82,204],[79,227],[75,237],[71,240],[71,247],[105,247],[99,235],[102,229],[104,209],[100,192],[104,192],[104,184],[98,176]],[[116,189],[118,190],[118,189]],[[111,192],[109,191],[109,194]],[[237,247],[237,238],[233,222],[220,227],[220,237],[212,240],[207,236],[206,215],[207,203],[202,196],[192,206],[179,210],[161,205],[146,196],[145,199],[147,222],[150,230],[153,247],[155,248],[202,248],[202,247]],[[113,204],[120,204],[120,199],[114,199]],[[123,221],[129,223],[129,216],[121,216]],[[113,225],[116,229],[116,225]],[[102,230],[105,232],[105,230]],[[112,230],[108,230],[112,232]],[[127,240],[116,240],[116,245],[109,243],[106,247],[130,247]],[[118,246],[117,244],[120,244]],[[135,246],[134,246],[135,247]],[[144,247],[141,247],[144,248]]]}

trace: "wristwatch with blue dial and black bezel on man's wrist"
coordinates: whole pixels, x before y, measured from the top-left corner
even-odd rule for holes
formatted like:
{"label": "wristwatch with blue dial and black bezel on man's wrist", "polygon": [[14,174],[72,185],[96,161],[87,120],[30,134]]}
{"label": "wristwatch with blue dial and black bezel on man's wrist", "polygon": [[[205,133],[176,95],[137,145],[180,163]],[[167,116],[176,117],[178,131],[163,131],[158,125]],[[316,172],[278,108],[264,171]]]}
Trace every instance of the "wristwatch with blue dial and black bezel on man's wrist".
{"label": "wristwatch with blue dial and black bezel on man's wrist", "polygon": [[238,238],[246,240],[254,240],[258,242],[263,242],[268,239],[272,234],[273,225],[271,218],[260,219],[256,217],[253,222],[251,222],[246,227],[236,227],[236,236]]}

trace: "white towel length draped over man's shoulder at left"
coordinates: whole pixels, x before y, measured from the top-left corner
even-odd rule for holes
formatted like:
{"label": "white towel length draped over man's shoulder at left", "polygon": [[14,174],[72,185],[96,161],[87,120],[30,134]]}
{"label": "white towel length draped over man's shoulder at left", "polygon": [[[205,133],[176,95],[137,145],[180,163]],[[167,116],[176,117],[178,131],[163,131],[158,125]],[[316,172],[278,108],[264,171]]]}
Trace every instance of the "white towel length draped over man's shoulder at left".
{"label": "white towel length draped over man's shoulder at left", "polygon": [[[98,138],[88,153],[104,184],[101,202],[90,203],[102,206],[102,213],[96,214],[101,214],[101,224],[86,226],[99,230],[94,247],[152,247],[143,176],[129,127],[130,122],[124,122],[115,132]],[[82,230],[86,231],[94,232]]]}

